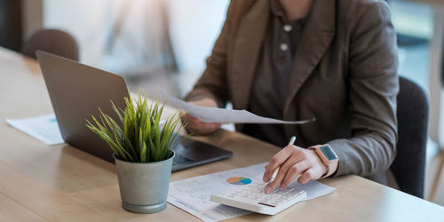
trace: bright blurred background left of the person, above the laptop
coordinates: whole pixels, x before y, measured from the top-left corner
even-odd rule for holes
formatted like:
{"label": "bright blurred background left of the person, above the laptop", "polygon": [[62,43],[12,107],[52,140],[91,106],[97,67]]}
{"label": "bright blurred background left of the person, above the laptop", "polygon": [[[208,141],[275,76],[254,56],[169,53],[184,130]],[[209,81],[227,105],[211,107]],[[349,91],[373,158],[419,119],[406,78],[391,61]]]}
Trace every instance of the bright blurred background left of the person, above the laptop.
{"label": "bright blurred background left of the person, above the laptop", "polygon": [[0,45],[20,52],[36,30],[57,28],[75,37],[80,62],[123,75],[133,89],[150,91],[150,85],[162,83],[165,91],[180,96],[202,73],[229,4],[228,0],[0,2],[0,11],[10,14],[9,20],[0,20],[6,28],[0,33]]}

